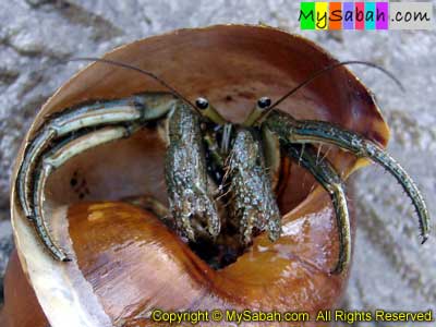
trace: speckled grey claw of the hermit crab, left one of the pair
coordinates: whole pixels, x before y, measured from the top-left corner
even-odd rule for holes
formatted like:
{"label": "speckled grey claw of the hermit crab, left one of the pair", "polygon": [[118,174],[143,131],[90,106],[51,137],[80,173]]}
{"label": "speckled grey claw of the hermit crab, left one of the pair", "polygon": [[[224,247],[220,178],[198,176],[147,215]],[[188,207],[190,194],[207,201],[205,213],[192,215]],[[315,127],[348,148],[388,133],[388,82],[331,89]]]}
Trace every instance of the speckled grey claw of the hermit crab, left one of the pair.
{"label": "speckled grey claw of the hermit crab, left one of the pair", "polygon": [[218,235],[220,220],[207,180],[201,116],[178,102],[169,116],[169,145],[165,175],[170,209],[179,229],[192,241],[202,222],[211,237]]}

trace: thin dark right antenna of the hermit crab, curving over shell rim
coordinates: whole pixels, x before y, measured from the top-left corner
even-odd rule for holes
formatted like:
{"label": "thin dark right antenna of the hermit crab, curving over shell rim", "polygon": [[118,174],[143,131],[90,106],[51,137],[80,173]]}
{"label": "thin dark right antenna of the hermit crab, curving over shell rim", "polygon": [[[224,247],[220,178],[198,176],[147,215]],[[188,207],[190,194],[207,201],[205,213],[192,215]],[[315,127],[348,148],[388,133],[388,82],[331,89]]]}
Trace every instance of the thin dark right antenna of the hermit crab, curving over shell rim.
{"label": "thin dark right antenna of the hermit crab, curving over shell rim", "polygon": [[324,73],[331,71],[334,69],[337,69],[339,66],[342,65],[349,65],[349,64],[363,64],[363,65],[367,65],[371,68],[375,68],[377,70],[379,70],[380,72],[385,73],[388,77],[390,77],[397,85],[398,87],[402,90],[405,92],[404,86],[401,84],[401,82],[388,70],[384,69],[380,65],[377,65],[375,63],[372,62],[367,62],[367,61],[360,61],[360,60],[349,60],[349,61],[340,61],[334,64],[330,64],[319,71],[316,71],[315,73],[312,74],[312,76],[310,76],[307,80],[305,80],[304,82],[302,82],[301,84],[296,85],[294,88],[292,88],[291,90],[289,90],[286,95],[283,95],[281,98],[279,98],[276,102],[274,102],[267,110],[265,110],[257,119],[257,121],[261,121],[263,118],[265,118],[269,112],[271,112],[271,110],[274,108],[276,108],[278,105],[280,105],[282,101],[284,101],[289,96],[291,96],[292,94],[294,94],[295,92],[298,92],[300,88],[306,86],[307,84],[312,83],[314,80],[316,80],[317,77],[322,76]]}

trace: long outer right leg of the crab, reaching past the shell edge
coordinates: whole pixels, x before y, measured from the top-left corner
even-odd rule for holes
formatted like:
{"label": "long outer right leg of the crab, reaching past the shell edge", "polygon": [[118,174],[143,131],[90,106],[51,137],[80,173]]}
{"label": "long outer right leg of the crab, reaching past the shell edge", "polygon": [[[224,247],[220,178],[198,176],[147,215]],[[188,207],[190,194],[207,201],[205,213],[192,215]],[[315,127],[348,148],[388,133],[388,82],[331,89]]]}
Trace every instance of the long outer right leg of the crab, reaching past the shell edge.
{"label": "long outer right leg of the crab, reaching past the shell edge", "polygon": [[323,121],[299,121],[277,110],[267,117],[265,123],[286,143],[323,142],[334,144],[358,157],[370,158],[382,165],[397,179],[412,199],[419,217],[422,243],[427,240],[429,216],[421,192],[404,169],[375,143],[335,124]]}

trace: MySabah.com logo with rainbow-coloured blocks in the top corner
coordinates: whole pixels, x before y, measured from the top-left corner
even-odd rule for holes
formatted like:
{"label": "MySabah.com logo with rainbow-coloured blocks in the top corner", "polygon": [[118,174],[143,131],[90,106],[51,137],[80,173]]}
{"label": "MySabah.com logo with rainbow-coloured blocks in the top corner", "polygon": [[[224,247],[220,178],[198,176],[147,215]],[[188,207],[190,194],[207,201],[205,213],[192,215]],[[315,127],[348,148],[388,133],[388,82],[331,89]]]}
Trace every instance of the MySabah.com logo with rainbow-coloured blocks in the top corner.
{"label": "MySabah.com logo with rainbow-coloured blocks in the top corner", "polygon": [[432,2],[301,2],[301,29],[433,29]]}

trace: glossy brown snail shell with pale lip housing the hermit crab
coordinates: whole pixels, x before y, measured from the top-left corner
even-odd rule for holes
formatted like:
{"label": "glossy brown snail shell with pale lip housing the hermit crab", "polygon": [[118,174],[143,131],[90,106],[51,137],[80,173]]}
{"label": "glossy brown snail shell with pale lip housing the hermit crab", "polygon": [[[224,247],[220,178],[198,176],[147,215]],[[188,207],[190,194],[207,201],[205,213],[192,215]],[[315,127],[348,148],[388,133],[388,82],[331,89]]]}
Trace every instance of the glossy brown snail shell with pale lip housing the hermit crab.
{"label": "glossy brown snail shell with pale lip housing the hermit crab", "polygon": [[[204,96],[233,122],[241,122],[261,96],[276,99],[335,62],[302,37],[246,25],[180,29],[120,47],[104,58],[153,71],[190,100]],[[25,142],[49,114],[81,102],[144,90],[166,89],[136,72],[93,63],[45,104]],[[346,68],[317,78],[280,109],[298,119],[336,122],[382,146],[388,141],[388,128],[373,97]],[[23,150],[24,144],[14,177]],[[40,326],[47,322],[53,327],[146,326],[146,313],[153,307],[314,313],[338,305],[348,276],[329,274],[338,253],[335,214],[320,186],[311,192],[312,177],[291,172],[282,187],[279,205],[286,215],[279,241],[270,243],[262,234],[237,263],[216,271],[153,215],[117,202],[141,194],[166,202],[164,154],[158,135],[144,130],[84,153],[53,173],[46,189],[45,210],[55,239],[73,257],[68,264],[55,262],[44,250],[12,187],[21,265],[12,259],[8,271],[0,318],[4,326],[36,326],[35,320],[23,323],[17,317],[32,311],[47,319],[41,318]],[[329,159],[342,175],[360,164],[340,150],[331,150]],[[72,175],[89,186],[85,201],[70,186]],[[26,290],[21,296],[28,302],[10,304],[11,283]],[[32,304],[24,308],[24,303]]]}

